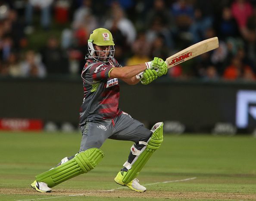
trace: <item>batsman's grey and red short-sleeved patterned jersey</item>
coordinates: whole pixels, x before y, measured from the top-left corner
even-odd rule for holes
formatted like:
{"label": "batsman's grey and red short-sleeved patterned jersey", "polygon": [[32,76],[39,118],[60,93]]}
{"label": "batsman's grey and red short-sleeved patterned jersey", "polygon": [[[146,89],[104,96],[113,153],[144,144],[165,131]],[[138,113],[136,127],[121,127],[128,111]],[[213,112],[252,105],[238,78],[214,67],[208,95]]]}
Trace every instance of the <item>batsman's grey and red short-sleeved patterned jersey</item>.
{"label": "batsman's grey and red short-sleeved patterned jersey", "polygon": [[109,73],[114,67],[121,65],[115,58],[103,63],[87,55],[85,60],[86,64],[81,74],[84,100],[80,108],[79,125],[83,125],[87,120],[113,119],[122,111],[118,108],[118,79],[109,78]]}

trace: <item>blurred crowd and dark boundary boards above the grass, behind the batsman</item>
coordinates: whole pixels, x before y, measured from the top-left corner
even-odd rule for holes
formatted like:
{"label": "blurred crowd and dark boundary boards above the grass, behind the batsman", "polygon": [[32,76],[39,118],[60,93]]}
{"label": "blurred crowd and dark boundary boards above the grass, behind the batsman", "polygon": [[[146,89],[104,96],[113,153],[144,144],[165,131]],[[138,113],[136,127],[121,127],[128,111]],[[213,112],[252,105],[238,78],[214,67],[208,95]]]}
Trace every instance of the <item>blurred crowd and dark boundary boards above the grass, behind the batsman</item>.
{"label": "blurred crowd and dark boundary boards above the grass, behind the batsman", "polygon": [[164,121],[169,133],[256,133],[255,0],[0,1],[0,129],[77,130],[97,27],[112,32],[123,66],[219,37],[219,49],[148,86],[121,82],[119,106],[149,128]]}

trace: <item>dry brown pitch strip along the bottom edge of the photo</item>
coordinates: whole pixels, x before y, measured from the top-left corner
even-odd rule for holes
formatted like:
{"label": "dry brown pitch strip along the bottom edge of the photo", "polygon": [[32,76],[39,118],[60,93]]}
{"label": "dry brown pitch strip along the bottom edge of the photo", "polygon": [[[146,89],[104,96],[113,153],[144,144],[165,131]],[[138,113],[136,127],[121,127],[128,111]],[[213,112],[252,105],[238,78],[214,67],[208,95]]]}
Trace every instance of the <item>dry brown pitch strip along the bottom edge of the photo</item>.
{"label": "dry brown pitch strip along the bottom edge of the photo", "polygon": [[[33,189],[0,189],[5,195],[38,195]],[[54,189],[53,192],[47,193],[56,198],[68,196],[96,196],[109,198],[162,198],[162,199],[232,199],[232,200],[256,200],[256,194],[241,193],[220,193],[220,192],[166,192],[166,191],[146,191],[143,193],[131,190],[71,190],[71,189]],[[41,198],[44,199],[44,198]],[[47,198],[48,199],[48,198]]]}

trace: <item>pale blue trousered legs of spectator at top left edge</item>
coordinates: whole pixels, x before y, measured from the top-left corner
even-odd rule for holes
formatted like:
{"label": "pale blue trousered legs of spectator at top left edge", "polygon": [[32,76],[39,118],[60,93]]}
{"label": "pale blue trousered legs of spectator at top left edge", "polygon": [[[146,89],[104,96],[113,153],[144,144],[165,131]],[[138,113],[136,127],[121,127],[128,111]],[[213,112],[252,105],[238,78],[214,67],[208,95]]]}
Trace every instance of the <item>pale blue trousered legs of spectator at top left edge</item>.
{"label": "pale blue trousered legs of spectator at top left edge", "polygon": [[51,18],[51,5],[53,0],[28,0],[25,9],[25,17],[26,23],[28,25],[27,31],[30,33],[32,29],[32,21],[33,21],[33,10],[41,9],[41,26],[48,30],[50,27],[50,18]]}

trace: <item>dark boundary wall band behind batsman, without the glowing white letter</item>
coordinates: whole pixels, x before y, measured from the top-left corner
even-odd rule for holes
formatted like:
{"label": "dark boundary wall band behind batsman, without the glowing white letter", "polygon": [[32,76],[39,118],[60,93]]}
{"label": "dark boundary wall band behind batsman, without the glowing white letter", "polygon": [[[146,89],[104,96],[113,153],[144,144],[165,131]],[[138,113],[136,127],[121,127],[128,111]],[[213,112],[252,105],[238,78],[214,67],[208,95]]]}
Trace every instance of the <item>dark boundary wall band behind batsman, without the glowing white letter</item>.
{"label": "dark boundary wall band behind batsman, without the glowing white letter", "polygon": [[[178,121],[188,132],[209,132],[217,122],[235,125],[237,91],[253,90],[255,83],[176,81],[130,86],[121,82],[121,110],[146,124]],[[0,118],[43,119],[78,124],[83,99],[76,79],[15,79],[0,84]],[[245,131],[256,121],[249,118]]]}

